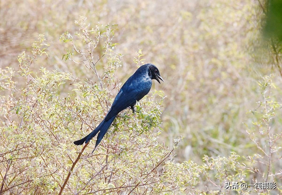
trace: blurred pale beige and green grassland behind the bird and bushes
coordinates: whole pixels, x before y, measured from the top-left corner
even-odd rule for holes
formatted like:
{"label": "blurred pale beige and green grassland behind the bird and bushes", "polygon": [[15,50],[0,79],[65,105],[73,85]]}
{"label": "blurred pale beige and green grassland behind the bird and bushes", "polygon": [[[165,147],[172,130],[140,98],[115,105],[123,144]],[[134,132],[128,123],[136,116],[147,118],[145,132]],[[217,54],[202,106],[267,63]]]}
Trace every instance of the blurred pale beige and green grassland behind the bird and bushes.
{"label": "blurred pale beige and green grassland behind the bird and bushes", "polygon": [[[43,66],[95,80],[83,65],[62,60],[69,44],[59,37],[65,30],[76,33],[74,21],[80,15],[91,26],[117,24],[113,42],[120,43],[117,50],[124,55],[118,78],[124,82],[136,70],[133,59],[142,49],[144,62],[155,64],[165,80],[161,85],[153,82],[152,88],[167,96],[160,140],[173,147],[173,139],[185,137],[177,161],[201,163],[204,154],[258,152],[246,125],[255,118],[249,111],[262,101],[257,84],[261,76],[274,74],[278,86],[274,96],[281,100],[280,62],[261,35],[265,2],[6,0],[0,5],[1,68],[18,70],[16,56],[30,50],[38,34],[44,34],[50,44],[49,59],[41,57],[32,67],[34,72]],[[103,49],[96,51],[101,56]],[[98,72],[105,60],[97,64]],[[64,90],[62,94],[68,92]]]}

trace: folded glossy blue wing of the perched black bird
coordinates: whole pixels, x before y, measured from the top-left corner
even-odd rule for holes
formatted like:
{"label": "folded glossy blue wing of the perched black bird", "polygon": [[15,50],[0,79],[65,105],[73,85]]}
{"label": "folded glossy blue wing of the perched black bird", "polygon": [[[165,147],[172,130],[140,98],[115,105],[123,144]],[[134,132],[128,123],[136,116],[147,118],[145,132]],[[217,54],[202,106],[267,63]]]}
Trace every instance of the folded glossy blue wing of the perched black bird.
{"label": "folded glossy blue wing of the perched black bird", "polygon": [[105,120],[112,118],[131,104],[135,103],[136,100],[142,99],[146,94],[149,93],[152,86],[152,81],[149,78],[134,78],[130,77],[122,86],[111,109],[109,110]]}

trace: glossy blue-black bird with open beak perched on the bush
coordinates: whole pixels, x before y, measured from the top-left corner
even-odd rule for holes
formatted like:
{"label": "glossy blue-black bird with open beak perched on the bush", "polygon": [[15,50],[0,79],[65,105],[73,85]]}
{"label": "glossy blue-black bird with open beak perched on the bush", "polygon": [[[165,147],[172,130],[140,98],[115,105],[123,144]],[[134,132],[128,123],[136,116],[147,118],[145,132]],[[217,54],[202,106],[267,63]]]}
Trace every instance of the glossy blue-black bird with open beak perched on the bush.
{"label": "glossy blue-black bird with open beak perched on the bush", "polygon": [[164,81],[155,65],[145,64],[140,66],[136,72],[127,79],[122,88],[120,88],[116,98],[114,98],[111,109],[100,125],[86,137],[75,141],[74,144],[82,145],[84,142],[87,143],[100,131],[97,136],[96,148],[119,112],[129,106],[132,111],[135,112],[134,105],[136,104],[136,101],[139,101],[149,93],[152,86],[152,79],[156,79],[159,83],[160,80]]}

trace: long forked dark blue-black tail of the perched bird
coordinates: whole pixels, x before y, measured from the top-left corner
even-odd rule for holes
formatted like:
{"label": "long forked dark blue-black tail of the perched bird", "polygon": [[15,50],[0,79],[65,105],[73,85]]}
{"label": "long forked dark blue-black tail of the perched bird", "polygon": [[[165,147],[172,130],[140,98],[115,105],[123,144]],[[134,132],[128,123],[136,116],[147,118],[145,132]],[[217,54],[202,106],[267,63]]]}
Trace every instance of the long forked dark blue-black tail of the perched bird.
{"label": "long forked dark blue-black tail of the perched bird", "polygon": [[98,125],[98,127],[96,127],[96,129],[94,129],[90,134],[88,134],[86,137],[74,141],[75,145],[82,145],[84,142],[88,143],[90,141],[90,139],[92,139],[93,137],[96,136],[96,134],[100,131],[100,133],[97,136],[97,141],[96,141],[96,145],[95,148],[97,147],[97,145],[100,143],[100,141],[102,140],[102,138],[104,137],[104,135],[106,134],[108,128],[111,126],[111,124],[113,123],[114,119],[116,118],[116,116],[113,116],[112,118],[110,118],[109,120],[105,121],[105,119],[100,123],[100,125]]}

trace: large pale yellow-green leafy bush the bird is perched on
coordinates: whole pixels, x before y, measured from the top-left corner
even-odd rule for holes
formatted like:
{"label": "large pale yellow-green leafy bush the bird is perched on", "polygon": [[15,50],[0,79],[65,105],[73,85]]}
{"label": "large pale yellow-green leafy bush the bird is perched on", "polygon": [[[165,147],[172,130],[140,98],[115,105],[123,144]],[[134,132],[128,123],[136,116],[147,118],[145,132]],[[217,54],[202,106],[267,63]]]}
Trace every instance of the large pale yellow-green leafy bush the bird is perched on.
{"label": "large pale yellow-green leafy bush the bird is perched on", "polygon": [[[72,143],[104,118],[113,101],[112,90],[121,85],[115,77],[122,55],[114,51],[116,44],[111,42],[114,26],[106,26],[105,31],[99,26],[88,30],[84,21],[81,17],[77,22],[81,29],[76,34],[83,47],[76,47],[67,32],[60,37],[72,41],[80,60],[69,50],[63,58],[85,65],[99,83],[44,67],[33,73],[36,59],[47,55],[49,45],[43,35],[32,44],[32,55],[22,52],[17,57],[17,73],[12,68],[1,69],[1,90],[9,91],[8,96],[1,96],[1,164],[6,170],[1,193],[53,194],[63,189],[64,182],[63,194],[165,194],[195,185],[193,162],[172,160],[180,139],[169,149],[158,141],[160,132],[152,131],[161,123],[161,91],[142,99],[136,114],[129,110],[120,113],[98,150],[92,152],[92,144],[81,150]],[[108,62],[101,77],[92,56],[100,41]],[[21,77],[23,88],[19,87],[23,83],[13,81],[15,76]],[[60,89],[67,85],[70,92],[61,95]]]}

